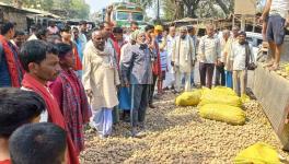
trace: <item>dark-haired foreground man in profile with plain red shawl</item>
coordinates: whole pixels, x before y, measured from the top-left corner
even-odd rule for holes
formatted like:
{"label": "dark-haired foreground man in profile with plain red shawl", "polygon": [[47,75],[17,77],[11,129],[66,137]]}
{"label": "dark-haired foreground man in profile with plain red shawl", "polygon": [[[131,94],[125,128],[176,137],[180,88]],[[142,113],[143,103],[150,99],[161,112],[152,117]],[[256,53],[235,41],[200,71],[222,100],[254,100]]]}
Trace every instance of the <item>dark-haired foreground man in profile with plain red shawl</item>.
{"label": "dark-haired foreground man in profile with plain red shawl", "polygon": [[79,164],[78,155],[69,133],[63,115],[56,98],[47,87],[48,81],[54,81],[59,74],[58,50],[53,45],[42,40],[30,40],[25,43],[20,51],[21,63],[26,71],[22,86],[38,93],[45,101],[48,112],[48,121],[61,127],[68,132],[68,164]]}

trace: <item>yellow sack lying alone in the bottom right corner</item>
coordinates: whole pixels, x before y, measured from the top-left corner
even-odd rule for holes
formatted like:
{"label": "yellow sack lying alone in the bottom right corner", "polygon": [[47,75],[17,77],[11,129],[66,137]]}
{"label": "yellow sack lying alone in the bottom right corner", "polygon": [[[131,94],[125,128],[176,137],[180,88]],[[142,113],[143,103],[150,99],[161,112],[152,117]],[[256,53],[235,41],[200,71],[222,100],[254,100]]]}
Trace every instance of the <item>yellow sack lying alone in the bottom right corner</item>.
{"label": "yellow sack lying alone in the bottom right corner", "polygon": [[234,159],[234,164],[280,164],[277,151],[266,143],[255,143],[241,151]]}

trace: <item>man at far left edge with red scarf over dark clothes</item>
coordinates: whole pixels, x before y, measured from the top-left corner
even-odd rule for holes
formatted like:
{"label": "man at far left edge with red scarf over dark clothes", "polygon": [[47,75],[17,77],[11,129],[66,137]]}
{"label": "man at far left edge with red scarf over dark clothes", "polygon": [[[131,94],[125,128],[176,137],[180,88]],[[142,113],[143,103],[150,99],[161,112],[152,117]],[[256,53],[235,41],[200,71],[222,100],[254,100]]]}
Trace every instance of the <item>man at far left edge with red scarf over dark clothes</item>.
{"label": "man at far left edge with red scarf over dark clothes", "polygon": [[15,31],[11,22],[2,24],[0,35],[0,87],[20,87],[23,70],[19,61],[16,47],[10,42]]}

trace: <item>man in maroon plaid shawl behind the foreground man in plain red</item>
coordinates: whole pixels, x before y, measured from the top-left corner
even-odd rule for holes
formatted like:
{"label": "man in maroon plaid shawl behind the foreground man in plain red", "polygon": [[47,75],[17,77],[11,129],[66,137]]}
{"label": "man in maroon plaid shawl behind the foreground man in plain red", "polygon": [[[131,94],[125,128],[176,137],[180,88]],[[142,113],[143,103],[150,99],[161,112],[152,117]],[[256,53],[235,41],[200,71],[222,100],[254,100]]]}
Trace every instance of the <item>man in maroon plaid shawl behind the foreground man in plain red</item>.
{"label": "man in maroon plaid shawl behind the foreground man in plain red", "polygon": [[84,149],[83,125],[89,122],[91,110],[83,85],[72,69],[74,66],[72,47],[62,43],[57,44],[57,47],[62,70],[49,87],[68,124],[76,151],[80,154]]}

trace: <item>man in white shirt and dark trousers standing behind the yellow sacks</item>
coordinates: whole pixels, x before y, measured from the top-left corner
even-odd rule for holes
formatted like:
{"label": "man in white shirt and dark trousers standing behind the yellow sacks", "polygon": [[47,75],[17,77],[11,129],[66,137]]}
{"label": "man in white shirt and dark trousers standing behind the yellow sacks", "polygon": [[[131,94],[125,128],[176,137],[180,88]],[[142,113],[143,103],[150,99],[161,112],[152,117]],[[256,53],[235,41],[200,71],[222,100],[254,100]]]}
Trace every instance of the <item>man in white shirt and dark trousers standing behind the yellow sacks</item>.
{"label": "man in white shirt and dark trousers standing behind the yellow sacks", "polygon": [[212,24],[207,26],[206,32],[207,35],[199,42],[199,77],[201,86],[211,89],[215,66],[220,63],[221,46]]}

